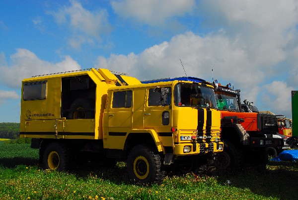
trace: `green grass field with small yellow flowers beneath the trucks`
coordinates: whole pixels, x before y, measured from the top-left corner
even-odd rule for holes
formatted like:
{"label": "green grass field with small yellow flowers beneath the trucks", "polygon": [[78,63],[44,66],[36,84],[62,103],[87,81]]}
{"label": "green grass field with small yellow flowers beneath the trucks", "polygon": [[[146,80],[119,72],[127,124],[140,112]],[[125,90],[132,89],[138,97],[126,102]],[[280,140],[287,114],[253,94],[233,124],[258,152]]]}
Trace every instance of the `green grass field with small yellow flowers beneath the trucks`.
{"label": "green grass field with small yellow flowers beneath the trucks", "polygon": [[44,171],[30,144],[0,143],[0,200],[297,200],[298,163],[198,177],[168,173],[162,184],[131,185],[123,163],[86,162],[72,172]]}

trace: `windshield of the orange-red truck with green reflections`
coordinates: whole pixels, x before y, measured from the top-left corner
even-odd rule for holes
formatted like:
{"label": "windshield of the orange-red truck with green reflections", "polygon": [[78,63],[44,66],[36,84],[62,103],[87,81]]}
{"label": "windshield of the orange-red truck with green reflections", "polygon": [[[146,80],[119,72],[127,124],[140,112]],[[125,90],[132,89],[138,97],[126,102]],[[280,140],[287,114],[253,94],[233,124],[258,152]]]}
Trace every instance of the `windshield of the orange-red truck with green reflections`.
{"label": "windshield of the orange-red truck with green reflections", "polygon": [[231,110],[239,112],[239,107],[237,103],[237,96],[236,95],[229,95],[229,94],[216,94],[218,108],[220,110]]}

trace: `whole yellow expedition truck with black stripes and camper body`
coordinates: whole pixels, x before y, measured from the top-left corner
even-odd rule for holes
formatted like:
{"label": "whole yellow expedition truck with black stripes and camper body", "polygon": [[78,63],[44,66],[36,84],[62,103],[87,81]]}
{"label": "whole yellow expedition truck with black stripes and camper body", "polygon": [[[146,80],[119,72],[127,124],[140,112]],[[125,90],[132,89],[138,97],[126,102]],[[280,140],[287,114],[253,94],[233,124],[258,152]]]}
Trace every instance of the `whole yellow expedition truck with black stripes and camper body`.
{"label": "whole yellow expedition truck with black stripes and camper body", "polygon": [[[209,106],[192,106],[202,94]],[[215,106],[206,84],[141,84],[93,68],[41,75],[22,81],[20,137],[32,138],[44,169],[67,169],[76,152],[91,151],[126,161],[132,183],[158,183],[164,166],[223,151]]]}

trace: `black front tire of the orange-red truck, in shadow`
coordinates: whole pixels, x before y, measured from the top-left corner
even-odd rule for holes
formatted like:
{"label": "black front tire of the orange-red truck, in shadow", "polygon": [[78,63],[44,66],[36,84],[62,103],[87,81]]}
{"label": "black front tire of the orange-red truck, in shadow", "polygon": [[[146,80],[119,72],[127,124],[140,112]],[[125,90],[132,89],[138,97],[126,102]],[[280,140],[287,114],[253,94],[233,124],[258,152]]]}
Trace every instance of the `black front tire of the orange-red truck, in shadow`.
{"label": "black front tire of the orange-red truck, in shadow", "polygon": [[215,155],[214,165],[219,170],[237,170],[243,165],[243,152],[229,141],[224,141],[224,151]]}

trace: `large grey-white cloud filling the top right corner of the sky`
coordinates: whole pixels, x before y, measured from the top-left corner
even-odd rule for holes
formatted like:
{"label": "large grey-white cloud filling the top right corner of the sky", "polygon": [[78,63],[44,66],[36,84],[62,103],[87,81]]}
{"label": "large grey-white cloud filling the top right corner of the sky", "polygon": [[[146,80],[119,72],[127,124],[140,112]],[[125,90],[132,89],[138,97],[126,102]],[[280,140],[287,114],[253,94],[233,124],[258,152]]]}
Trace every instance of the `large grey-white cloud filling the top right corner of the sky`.
{"label": "large grey-white cloud filling the top right corner of the sky", "polygon": [[265,67],[285,60],[285,48],[297,37],[297,0],[203,0],[198,7],[206,14],[204,24],[224,27],[228,37],[238,38],[246,48],[250,60]]}

